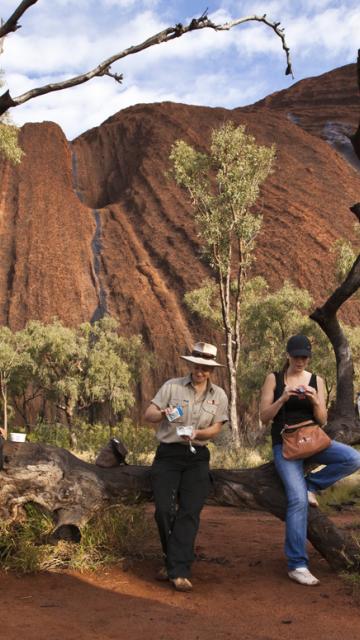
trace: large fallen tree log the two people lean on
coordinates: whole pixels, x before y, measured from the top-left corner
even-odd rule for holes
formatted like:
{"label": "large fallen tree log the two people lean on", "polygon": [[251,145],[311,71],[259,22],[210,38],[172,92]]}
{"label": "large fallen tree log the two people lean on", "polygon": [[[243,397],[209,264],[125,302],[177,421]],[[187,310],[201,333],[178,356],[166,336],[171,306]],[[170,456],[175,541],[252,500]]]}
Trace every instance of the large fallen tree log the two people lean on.
{"label": "large fallen tree log the two people lean on", "polygon": [[[52,515],[53,539],[78,541],[81,527],[109,504],[152,499],[149,467],[123,464],[103,469],[45,444],[5,442],[3,453],[0,518],[21,520],[24,505],[35,503]],[[213,470],[212,477],[210,503],[260,509],[284,520],[286,499],[272,463],[256,469]],[[308,537],[334,569],[360,568],[359,546],[318,509],[309,510]]]}

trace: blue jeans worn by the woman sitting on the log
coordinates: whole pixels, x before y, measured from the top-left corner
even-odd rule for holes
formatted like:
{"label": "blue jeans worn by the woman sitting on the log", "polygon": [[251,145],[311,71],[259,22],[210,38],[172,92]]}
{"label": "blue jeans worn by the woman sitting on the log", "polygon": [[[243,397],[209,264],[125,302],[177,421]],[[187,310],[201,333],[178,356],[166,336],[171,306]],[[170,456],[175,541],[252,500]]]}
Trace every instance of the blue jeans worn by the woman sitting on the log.
{"label": "blue jeans worn by the woman sitting on the log", "polygon": [[326,466],[304,477],[303,460],[286,460],[282,455],[282,444],[274,445],[273,452],[275,467],[287,497],[285,555],[291,571],[308,565],[307,491],[316,493],[326,489],[337,480],[360,469],[360,453],[346,444],[333,440],[327,449],[307,458],[307,462]]}

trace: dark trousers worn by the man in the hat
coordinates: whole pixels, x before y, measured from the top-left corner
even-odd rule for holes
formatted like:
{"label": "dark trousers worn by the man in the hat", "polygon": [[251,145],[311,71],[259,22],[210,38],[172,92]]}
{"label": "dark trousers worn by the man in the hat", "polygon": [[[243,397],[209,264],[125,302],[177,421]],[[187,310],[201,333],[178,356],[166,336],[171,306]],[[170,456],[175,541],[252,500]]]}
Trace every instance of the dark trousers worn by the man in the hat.
{"label": "dark trousers worn by the man in the hat", "polygon": [[151,469],[155,520],[170,578],[189,578],[200,512],[210,490],[209,450],[161,443]]}

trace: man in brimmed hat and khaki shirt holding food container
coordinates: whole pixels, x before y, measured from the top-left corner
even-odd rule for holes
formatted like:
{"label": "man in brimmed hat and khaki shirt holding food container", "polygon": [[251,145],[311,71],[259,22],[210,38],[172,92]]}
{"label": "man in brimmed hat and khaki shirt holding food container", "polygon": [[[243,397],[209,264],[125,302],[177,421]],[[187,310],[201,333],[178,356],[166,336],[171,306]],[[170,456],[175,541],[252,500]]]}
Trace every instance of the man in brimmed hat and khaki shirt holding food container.
{"label": "man in brimmed hat and khaki shirt holding food container", "polygon": [[[228,420],[225,391],[211,381],[217,349],[198,342],[188,356],[190,373],[163,384],[145,412],[159,446],[151,469],[165,567],[158,579],[170,580],[178,591],[191,591],[190,569],[200,512],[210,489],[206,444]],[[184,435],[186,434],[186,435]]]}

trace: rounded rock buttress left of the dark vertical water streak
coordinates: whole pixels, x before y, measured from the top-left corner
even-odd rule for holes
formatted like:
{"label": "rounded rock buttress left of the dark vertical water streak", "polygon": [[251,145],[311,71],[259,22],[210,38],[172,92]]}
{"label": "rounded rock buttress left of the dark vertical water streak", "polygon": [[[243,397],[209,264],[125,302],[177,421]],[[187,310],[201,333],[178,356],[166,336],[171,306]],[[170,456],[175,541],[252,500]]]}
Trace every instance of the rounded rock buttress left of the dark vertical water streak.
{"label": "rounded rock buttress left of the dark vertical water streak", "polygon": [[97,306],[94,220],[72,188],[70,147],[52,123],[25,125],[17,168],[1,165],[0,318],[19,329],[31,318],[69,324]]}

